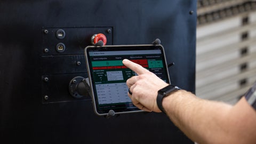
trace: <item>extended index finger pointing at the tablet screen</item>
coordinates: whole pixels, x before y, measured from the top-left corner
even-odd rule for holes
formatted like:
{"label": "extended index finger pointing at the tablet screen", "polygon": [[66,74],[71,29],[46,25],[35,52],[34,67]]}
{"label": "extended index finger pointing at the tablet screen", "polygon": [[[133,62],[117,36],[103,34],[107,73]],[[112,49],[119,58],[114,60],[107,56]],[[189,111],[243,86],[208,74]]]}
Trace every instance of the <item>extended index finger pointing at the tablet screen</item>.
{"label": "extended index finger pointing at the tablet screen", "polygon": [[135,73],[137,73],[138,75],[141,74],[145,74],[148,73],[148,70],[146,68],[143,68],[142,66],[140,66],[139,64],[132,62],[130,60],[124,59],[123,60],[123,64],[127,67],[130,68],[131,70],[133,70]]}

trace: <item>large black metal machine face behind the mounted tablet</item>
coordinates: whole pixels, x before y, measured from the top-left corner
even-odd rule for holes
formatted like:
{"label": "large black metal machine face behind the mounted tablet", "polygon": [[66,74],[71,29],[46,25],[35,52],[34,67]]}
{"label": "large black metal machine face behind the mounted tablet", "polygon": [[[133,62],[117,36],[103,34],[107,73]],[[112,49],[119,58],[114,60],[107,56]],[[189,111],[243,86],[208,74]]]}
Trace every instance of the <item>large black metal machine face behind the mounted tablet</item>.
{"label": "large black metal machine face behind the mounted tablet", "polygon": [[163,114],[96,116],[91,99],[71,97],[68,84],[87,77],[83,48],[95,32],[115,45],[161,39],[175,62],[172,84],[194,92],[195,28],[193,0],[1,1],[0,143],[193,143]]}

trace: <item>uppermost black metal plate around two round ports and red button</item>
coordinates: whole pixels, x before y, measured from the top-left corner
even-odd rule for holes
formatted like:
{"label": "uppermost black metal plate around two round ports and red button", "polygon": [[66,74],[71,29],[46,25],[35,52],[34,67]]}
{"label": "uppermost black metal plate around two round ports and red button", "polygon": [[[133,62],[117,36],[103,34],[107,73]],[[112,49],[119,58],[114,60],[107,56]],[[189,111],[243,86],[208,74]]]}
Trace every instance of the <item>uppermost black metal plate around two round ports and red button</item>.
{"label": "uppermost black metal plate around two round ports and red button", "polygon": [[[56,32],[61,29],[65,31],[65,37],[59,39],[56,37]],[[45,30],[47,33],[45,33]],[[108,30],[110,32],[108,33]],[[105,34],[107,37],[107,45],[113,44],[113,28],[111,27],[58,27],[58,28],[43,28],[42,29],[42,55],[70,55],[84,54],[84,48],[91,44],[91,37],[94,34]],[[63,52],[56,51],[56,45],[63,43],[66,50]],[[44,50],[49,51],[45,52]]]}

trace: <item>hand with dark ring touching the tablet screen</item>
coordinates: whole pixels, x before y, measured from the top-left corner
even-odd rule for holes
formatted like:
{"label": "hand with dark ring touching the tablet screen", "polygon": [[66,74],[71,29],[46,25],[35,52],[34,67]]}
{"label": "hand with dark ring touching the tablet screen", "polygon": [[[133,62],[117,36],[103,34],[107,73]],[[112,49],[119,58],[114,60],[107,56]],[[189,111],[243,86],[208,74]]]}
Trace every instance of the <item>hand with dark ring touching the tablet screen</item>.
{"label": "hand with dark ring touching the tablet screen", "polygon": [[168,84],[137,63],[124,59],[123,64],[138,74],[126,81],[132,92],[132,95],[130,93],[128,95],[133,105],[141,110],[161,112],[156,103],[157,92]]}

